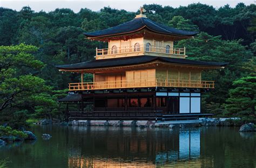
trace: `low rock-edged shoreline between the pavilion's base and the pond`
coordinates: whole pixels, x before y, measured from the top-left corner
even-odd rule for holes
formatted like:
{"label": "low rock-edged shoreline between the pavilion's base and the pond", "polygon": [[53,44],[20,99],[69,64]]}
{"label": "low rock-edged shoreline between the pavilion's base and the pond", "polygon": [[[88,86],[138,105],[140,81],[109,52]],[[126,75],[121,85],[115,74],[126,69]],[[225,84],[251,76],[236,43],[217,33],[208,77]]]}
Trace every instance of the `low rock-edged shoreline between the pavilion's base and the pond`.
{"label": "low rock-edged shoreline between the pavilion's base and the pond", "polygon": [[151,121],[151,120],[73,120],[69,122],[52,123],[43,120],[41,123],[34,124],[58,124],[63,126],[78,125],[82,127],[100,126],[100,127],[139,127],[139,128],[174,128],[174,127],[240,127],[242,124],[240,118],[199,118],[198,120],[172,120],[172,121]]}

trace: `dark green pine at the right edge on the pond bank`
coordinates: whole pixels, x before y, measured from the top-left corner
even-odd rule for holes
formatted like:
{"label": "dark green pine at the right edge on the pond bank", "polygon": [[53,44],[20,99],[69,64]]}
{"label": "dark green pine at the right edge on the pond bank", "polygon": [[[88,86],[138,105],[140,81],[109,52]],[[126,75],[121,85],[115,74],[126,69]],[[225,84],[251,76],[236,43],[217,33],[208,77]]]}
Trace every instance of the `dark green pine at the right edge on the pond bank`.
{"label": "dark green pine at the right edge on the pond bank", "polygon": [[229,90],[230,98],[226,104],[228,113],[256,117],[256,74],[234,81],[233,87]]}

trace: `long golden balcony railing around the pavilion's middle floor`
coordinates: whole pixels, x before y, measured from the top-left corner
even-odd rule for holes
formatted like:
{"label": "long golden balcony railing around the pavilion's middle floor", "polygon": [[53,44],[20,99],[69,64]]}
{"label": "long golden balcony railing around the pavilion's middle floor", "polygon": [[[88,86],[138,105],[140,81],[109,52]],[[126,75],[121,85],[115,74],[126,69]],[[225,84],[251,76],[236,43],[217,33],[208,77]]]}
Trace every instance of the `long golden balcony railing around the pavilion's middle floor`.
{"label": "long golden balcony railing around the pavilion's middle floor", "polygon": [[156,79],[69,83],[69,90],[98,90],[142,87],[214,88],[214,81]]}

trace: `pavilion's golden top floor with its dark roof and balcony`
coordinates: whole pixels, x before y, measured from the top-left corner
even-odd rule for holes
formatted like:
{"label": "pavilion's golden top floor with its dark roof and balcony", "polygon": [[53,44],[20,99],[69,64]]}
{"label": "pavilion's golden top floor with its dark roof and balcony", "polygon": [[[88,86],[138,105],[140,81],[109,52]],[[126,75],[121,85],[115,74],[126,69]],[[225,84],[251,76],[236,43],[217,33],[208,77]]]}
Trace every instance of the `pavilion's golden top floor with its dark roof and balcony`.
{"label": "pavilion's golden top floor with its dark roof and balcony", "polygon": [[141,12],[129,22],[84,34],[87,39],[108,43],[107,48],[96,48],[96,59],[109,59],[140,55],[186,58],[186,48],[175,48],[173,42],[197,33],[153,22]]}

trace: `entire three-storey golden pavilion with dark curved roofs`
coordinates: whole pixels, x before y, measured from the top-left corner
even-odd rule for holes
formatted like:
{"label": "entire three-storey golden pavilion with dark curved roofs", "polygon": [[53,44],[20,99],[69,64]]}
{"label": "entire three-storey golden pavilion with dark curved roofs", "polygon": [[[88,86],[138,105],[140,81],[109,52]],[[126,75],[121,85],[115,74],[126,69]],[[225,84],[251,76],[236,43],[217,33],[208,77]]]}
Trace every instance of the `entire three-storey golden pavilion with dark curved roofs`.
{"label": "entire three-storey golden pavilion with dark curved roofs", "polygon": [[[201,73],[227,63],[190,60],[185,47],[174,47],[174,41],[196,34],[153,22],[142,12],[129,22],[84,33],[87,39],[108,43],[108,48],[96,48],[95,60],[56,66],[81,74],[80,82],[69,83],[71,93],[59,102],[79,102],[68,115],[85,120],[203,115],[201,94],[214,89],[214,81],[203,80]],[[93,74],[93,82],[84,81],[85,73]]]}

